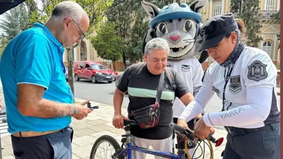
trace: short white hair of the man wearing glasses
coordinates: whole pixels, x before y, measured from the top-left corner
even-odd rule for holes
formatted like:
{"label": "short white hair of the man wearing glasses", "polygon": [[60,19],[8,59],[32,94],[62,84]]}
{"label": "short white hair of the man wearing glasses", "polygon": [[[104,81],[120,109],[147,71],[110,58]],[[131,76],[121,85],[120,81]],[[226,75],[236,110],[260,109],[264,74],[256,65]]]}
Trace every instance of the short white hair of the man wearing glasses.
{"label": "short white hair of the man wearing glasses", "polygon": [[62,18],[72,18],[77,23],[81,21],[83,16],[88,17],[83,8],[73,1],[59,3],[54,7],[51,14],[51,18],[56,21],[60,21]]}

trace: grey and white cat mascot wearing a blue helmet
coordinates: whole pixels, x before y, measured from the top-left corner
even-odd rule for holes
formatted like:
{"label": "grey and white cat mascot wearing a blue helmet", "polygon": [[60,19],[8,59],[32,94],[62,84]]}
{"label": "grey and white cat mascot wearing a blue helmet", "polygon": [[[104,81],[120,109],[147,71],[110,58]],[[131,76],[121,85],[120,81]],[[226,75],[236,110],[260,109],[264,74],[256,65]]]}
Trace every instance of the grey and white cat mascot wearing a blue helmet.
{"label": "grey and white cat mascot wearing a blue helmet", "polygon": [[[194,96],[202,84],[204,72],[201,63],[208,58],[206,50],[199,52],[200,42],[205,36],[205,33],[200,32],[203,25],[200,12],[207,2],[208,0],[197,0],[190,6],[186,4],[179,6],[177,3],[172,3],[162,9],[151,3],[141,2],[148,15],[151,16],[150,29],[143,41],[143,52],[145,52],[145,46],[149,40],[156,37],[167,40],[170,47],[167,67],[176,70]],[[195,58],[197,55],[200,55],[199,60]],[[173,103],[174,123],[184,109],[185,105],[176,97]],[[188,122],[188,127],[194,130],[194,119]],[[173,132],[173,139],[174,136]],[[174,144],[173,147],[175,147]],[[194,148],[190,149],[190,156],[194,151]]]}

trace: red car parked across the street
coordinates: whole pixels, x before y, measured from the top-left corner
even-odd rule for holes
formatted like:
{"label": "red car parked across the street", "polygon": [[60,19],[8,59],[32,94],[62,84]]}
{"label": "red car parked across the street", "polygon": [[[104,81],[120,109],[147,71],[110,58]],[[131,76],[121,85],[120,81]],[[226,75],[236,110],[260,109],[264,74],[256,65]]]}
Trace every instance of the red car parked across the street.
{"label": "red car parked across the street", "polygon": [[112,83],[115,79],[113,71],[108,70],[98,62],[78,61],[74,65],[74,78],[91,80],[92,83],[107,81]]}

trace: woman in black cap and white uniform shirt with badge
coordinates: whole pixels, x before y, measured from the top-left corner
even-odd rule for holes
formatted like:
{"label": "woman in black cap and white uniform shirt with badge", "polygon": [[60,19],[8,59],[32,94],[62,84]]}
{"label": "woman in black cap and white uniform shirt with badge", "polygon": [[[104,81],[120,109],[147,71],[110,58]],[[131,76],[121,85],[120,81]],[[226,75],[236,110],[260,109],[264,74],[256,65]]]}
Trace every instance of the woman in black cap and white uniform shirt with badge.
{"label": "woman in black cap and white uniform shirt with badge", "polygon": [[217,93],[223,101],[221,112],[204,115],[196,123],[195,135],[205,139],[210,127],[224,126],[228,132],[224,159],[278,159],[277,70],[265,51],[245,45],[243,29],[243,23],[237,24],[231,13],[203,25],[200,51],[207,49],[215,62],[205,71],[199,93],[177,124],[187,128],[186,122],[200,114]]}

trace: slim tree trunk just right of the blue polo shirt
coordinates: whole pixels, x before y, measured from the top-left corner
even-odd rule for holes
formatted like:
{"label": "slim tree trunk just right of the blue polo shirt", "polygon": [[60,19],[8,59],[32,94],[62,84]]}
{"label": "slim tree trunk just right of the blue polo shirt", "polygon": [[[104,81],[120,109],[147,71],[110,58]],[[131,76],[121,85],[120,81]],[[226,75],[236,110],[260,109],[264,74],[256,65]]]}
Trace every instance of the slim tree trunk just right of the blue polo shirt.
{"label": "slim tree trunk just right of the blue polo shirt", "polygon": [[72,93],[75,96],[75,89],[74,89],[74,76],[73,76],[73,57],[74,57],[74,50],[73,47],[67,48],[68,51],[68,79],[69,79],[69,85],[71,87]]}

